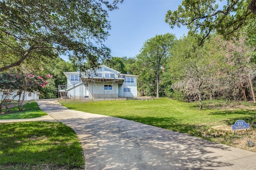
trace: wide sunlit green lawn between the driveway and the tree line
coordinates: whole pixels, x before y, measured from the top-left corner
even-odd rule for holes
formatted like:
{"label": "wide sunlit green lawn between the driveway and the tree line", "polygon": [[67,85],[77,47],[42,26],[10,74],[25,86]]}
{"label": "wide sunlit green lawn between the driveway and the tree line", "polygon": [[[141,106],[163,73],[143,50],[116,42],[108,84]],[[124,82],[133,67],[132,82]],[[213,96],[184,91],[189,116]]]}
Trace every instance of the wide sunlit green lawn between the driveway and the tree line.
{"label": "wide sunlit green lawn between the driveway and the tree line", "polygon": [[201,131],[212,126],[231,125],[238,119],[250,121],[256,112],[251,109],[203,109],[194,103],[167,98],[100,102],[60,101],[69,109],[120,117],[180,133],[201,137]]}

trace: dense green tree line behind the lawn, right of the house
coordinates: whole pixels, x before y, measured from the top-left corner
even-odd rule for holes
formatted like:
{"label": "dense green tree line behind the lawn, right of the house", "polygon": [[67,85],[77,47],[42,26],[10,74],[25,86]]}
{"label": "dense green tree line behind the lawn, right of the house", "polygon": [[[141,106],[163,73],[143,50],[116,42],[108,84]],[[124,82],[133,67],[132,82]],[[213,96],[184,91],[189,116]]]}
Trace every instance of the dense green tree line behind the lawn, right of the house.
{"label": "dense green tree line behind the lawn, right of the house", "polygon": [[[145,41],[136,57],[114,57],[105,64],[139,75],[141,96],[199,101],[200,109],[202,100],[255,102],[256,48],[247,34],[241,31],[240,37],[231,40],[212,34],[203,45],[198,45],[200,35],[192,32],[180,39],[172,34],[156,35]],[[164,41],[159,37],[165,37]],[[160,49],[165,51],[164,55]]]}

